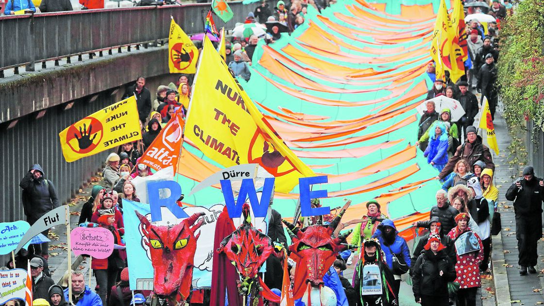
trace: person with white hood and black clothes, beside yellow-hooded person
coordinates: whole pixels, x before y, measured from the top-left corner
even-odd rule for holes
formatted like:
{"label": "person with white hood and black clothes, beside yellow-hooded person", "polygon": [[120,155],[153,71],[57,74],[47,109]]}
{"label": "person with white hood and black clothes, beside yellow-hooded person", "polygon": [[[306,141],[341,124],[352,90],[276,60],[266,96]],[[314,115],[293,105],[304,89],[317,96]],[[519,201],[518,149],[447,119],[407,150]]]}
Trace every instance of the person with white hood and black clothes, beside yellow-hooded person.
{"label": "person with white hood and black clothes, beside yellow-hooded person", "polygon": [[481,243],[484,245],[484,259],[480,262],[480,271],[487,271],[489,264],[489,255],[491,253],[491,223],[489,221],[489,203],[482,197],[481,186],[478,178],[475,176],[467,180],[467,186],[474,193],[474,201],[478,211],[477,220],[480,229]]}

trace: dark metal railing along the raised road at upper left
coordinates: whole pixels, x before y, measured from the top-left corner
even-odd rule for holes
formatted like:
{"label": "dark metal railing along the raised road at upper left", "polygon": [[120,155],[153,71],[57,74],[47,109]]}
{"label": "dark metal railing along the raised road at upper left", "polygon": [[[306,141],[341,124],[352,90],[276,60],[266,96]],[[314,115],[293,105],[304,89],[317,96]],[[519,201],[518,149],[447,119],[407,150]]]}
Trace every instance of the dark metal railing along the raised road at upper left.
{"label": "dark metal railing along the raised road at upper left", "polygon": [[[229,5],[234,18],[226,24],[215,18],[218,28],[232,29],[258,3]],[[166,39],[170,16],[187,34],[200,33],[210,6],[195,3],[0,17],[0,77],[5,69],[27,66],[27,71],[34,71],[34,64],[45,60]]]}

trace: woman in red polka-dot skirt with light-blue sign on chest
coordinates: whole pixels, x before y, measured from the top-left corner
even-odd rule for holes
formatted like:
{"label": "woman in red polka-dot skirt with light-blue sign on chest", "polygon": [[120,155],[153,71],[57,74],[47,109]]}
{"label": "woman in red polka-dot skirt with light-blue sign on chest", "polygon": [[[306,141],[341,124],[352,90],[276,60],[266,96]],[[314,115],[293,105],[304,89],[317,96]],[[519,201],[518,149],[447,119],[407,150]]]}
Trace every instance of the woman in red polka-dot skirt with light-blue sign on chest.
{"label": "woman in red polka-dot skirt with light-blue sign on chest", "polygon": [[476,293],[480,284],[480,262],[484,259],[484,246],[478,234],[468,227],[468,213],[462,212],[455,216],[457,226],[448,236],[454,240],[457,252],[455,271],[456,282],[459,283],[457,292],[458,306],[476,305]]}

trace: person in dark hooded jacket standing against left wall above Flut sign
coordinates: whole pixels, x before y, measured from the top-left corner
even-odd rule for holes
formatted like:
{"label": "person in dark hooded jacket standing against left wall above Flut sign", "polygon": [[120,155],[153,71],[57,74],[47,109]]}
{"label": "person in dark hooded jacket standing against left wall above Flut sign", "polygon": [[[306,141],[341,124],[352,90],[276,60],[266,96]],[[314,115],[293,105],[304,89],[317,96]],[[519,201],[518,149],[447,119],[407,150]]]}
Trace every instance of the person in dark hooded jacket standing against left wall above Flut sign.
{"label": "person in dark hooded jacket standing against left wall above Flut sign", "polygon": [[[41,216],[59,207],[57,189],[55,189],[53,182],[45,178],[44,169],[40,164],[33,164],[30,167],[19,186],[23,188],[23,211],[30,225],[38,221]],[[42,234],[47,237],[48,232],[47,229]],[[49,258],[48,247],[47,242],[34,244],[34,252],[47,259]]]}

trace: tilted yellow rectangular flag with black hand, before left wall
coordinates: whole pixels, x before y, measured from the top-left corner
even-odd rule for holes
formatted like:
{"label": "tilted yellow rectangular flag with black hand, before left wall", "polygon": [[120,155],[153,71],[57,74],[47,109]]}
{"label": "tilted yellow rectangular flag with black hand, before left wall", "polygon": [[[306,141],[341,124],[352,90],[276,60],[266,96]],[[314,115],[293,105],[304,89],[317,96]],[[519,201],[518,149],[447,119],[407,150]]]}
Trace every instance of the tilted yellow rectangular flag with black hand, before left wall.
{"label": "tilted yellow rectangular flag with black hand, before left wall", "polygon": [[67,162],[95,155],[141,139],[136,97],[114,103],[90,114],[59,133]]}

